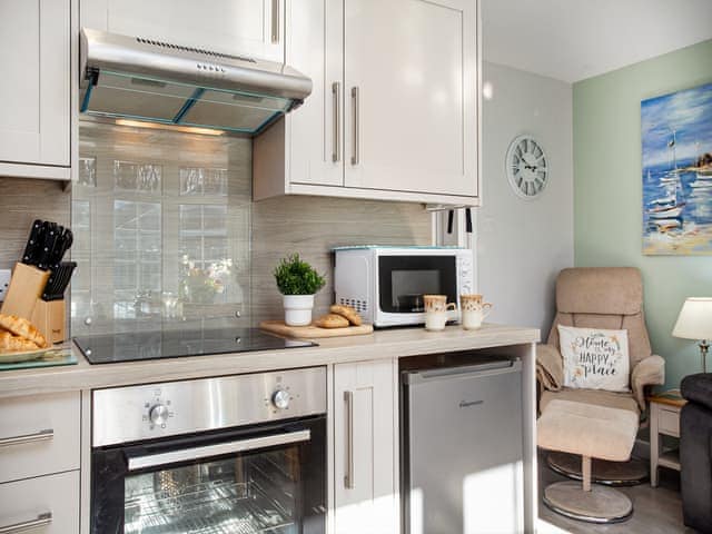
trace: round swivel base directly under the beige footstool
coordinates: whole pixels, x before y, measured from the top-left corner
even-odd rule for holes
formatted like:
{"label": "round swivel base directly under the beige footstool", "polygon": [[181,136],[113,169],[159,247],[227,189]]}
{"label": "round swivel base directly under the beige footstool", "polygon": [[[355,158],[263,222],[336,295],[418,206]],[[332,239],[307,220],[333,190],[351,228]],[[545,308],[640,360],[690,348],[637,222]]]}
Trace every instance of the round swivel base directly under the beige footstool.
{"label": "round swivel base directly under the beige footstool", "polygon": [[584,491],[573,481],[546,486],[544,504],[557,514],[589,523],[621,523],[633,514],[633,503],[617,490],[592,486]]}

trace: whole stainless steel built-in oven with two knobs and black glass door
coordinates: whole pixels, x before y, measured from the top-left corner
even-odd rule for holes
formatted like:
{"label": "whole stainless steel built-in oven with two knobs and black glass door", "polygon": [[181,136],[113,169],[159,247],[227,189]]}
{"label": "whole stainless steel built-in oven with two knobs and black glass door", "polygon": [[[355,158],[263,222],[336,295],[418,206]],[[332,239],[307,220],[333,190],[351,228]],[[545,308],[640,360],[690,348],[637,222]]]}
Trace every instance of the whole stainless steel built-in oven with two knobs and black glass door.
{"label": "whole stainless steel built-in oven with two knobs and black glass door", "polygon": [[92,534],[326,532],[324,367],[92,395]]}

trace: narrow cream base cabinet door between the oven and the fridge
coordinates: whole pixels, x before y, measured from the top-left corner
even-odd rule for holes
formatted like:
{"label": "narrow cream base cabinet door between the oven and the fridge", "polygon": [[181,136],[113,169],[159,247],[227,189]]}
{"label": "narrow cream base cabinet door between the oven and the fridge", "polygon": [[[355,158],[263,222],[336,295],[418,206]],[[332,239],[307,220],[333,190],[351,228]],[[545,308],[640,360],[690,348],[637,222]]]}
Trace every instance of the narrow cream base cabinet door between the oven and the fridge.
{"label": "narrow cream base cabinet door between the oven and the fridge", "polygon": [[398,532],[392,360],[334,367],[334,532]]}

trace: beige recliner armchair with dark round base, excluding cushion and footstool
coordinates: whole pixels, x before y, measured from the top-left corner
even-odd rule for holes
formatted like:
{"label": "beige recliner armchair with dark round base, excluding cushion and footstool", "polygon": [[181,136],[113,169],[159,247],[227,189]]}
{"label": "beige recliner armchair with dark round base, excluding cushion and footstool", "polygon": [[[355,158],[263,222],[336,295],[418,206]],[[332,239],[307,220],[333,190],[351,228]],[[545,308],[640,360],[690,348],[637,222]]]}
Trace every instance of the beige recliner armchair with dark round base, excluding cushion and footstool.
{"label": "beige recliner armchair with dark round base, excluding cushion and footstool", "polygon": [[[564,368],[558,350],[557,325],[583,328],[626,329],[631,358],[630,393],[563,387]],[[556,279],[556,316],[546,344],[537,346],[536,375],[540,383],[540,412],[553,399],[572,400],[633,412],[645,412],[645,389],[663,384],[665,362],[652,354],[643,317],[643,283],[632,267],[577,267],[564,269]],[[555,471],[581,477],[580,458],[552,453],[548,465]],[[622,465],[594,462],[593,482],[635,484],[647,475],[645,465],[626,469]]]}

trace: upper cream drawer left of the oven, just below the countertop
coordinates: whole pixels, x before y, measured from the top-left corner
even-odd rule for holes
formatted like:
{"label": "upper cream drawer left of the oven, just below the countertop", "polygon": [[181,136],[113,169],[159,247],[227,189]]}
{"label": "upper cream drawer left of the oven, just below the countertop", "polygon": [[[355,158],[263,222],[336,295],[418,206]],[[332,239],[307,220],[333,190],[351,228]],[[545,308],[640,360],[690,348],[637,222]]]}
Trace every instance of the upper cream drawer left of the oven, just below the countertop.
{"label": "upper cream drawer left of the oven, just below the countertop", "polygon": [[79,468],[79,392],[0,400],[0,483]]}

